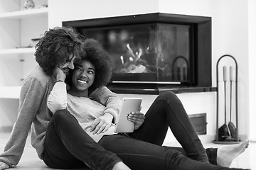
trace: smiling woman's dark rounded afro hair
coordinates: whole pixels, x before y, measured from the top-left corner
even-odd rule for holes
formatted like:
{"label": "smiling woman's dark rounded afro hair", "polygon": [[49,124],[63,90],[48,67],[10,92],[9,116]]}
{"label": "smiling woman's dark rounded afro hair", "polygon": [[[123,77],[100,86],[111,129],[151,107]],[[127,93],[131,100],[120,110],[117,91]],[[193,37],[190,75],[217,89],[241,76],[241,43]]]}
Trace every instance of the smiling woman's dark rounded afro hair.
{"label": "smiling woman's dark rounded afro hair", "polygon": [[[89,88],[89,93],[99,88],[100,86],[106,86],[112,77],[112,62],[110,56],[102,47],[100,42],[95,39],[88,38],[84,41],[86,55],[81,56],[81,61],[89,61],[95,66],[95,80]],[[72,73],[66,79],[66,82],[72,86]]]}

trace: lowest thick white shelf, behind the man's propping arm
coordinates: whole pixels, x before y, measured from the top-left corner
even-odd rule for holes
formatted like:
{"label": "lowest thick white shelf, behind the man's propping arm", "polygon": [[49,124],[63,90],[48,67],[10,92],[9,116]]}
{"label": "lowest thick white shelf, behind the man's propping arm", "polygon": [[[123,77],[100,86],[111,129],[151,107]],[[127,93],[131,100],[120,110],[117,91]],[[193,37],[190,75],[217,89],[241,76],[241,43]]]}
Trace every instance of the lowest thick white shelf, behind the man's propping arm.
{"label": "lowest thick white shelf, behind the man's propping arm", "polygon": [[0,86],[0,98],[19,99],[21,86]]}

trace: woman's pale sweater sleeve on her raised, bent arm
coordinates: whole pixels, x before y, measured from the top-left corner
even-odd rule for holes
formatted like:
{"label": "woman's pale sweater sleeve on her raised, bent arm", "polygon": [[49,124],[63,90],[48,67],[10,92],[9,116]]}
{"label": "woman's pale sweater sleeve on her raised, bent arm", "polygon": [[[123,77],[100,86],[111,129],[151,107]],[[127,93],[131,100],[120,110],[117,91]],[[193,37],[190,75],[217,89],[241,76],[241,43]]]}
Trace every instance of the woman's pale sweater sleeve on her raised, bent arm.
{"label": "woman's pale sweater sleeve on her raised, bent arm", "polygon": [[53,114],[67,108],[67,90],[64,82],[58,81],[54,84],[48,96],[47,107]]}

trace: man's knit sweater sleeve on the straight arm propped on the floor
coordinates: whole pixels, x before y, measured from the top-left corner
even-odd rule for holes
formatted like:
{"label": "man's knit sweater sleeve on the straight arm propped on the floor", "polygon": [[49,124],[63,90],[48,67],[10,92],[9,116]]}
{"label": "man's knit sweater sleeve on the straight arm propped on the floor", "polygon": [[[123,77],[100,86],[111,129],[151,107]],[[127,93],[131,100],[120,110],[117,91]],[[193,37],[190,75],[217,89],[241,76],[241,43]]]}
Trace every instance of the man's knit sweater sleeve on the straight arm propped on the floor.
{"label": "man's knit sweater sleeve on the straight arm propped on the floor", "polygon": [[7,142],[4,153],[0,154],[0,162],[17,165],[23,154],[26,138],[31,128],[33,119],[38,112],[45,91],[41,82],[37,79],[26,79],[21,88],[18,118],[11,131],[11,137]]}

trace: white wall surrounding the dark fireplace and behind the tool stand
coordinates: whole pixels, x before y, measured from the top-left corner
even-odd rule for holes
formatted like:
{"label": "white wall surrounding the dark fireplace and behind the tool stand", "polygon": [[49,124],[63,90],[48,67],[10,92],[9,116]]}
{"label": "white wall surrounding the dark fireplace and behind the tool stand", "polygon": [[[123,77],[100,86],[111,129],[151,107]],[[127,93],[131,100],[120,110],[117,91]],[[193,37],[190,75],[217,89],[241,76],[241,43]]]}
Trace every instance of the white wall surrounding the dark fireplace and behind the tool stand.
{"label": "white wall surrounding the dark fireplace and behind the tool stand", "polygon": [[[247,1],[239,0],[141,0],[141,1],[49,1],[48,26],[62,26],[62,21],[73,21],[89,18],[126,16],[142,13],[176,13],[193,16],[212,17],[212,72],[213,86],[216,86],[215,64],[225,54],[233,55],[238,60],[238,113],[239,134],[248,135],[248,21]],[[61,4],[61,8],[60,8]],[[120,97],[130,96],[119,94]],[[133,96],[133,95],[132,95]],[[137,96],[137,95],[134,95]],[[141,96],[141,95],[140,95]],[[143,108],[156,96],[142,95]],[[215,135],[215,100],[214,92],[178,94],[188,114],[208,113],[208,136],[213,140]],[[196,107],[195,107],[196,106]],[[201,138],[204,138],[201,136]]]}

